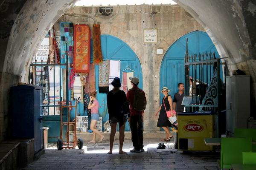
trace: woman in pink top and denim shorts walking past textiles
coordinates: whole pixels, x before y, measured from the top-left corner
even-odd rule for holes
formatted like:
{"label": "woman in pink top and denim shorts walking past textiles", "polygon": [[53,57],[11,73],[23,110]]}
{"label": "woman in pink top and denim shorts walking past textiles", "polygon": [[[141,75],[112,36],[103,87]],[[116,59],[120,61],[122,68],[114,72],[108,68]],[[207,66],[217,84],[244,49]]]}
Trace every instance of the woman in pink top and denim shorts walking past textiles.
{"label": "woman in pink top and denim shorts walking past textiles", "polygon": [[[96,123],[99,120],[99,102],[96,99],[96,94],[97,92],[92,92],[90,93],[90,102],[88,105],[88,109],[91,109],[91,115],[92,115],[92,120],[90,123],[90,130],[93,130],[93,139],[88,142],[88,143],[95,143],[96,142],[96,134],[100,136],[99,142],[102,142],[104,139],[104,136],[100,134],[100,132],[96,129]],[[91,104],[91,102],[93,103]]]}

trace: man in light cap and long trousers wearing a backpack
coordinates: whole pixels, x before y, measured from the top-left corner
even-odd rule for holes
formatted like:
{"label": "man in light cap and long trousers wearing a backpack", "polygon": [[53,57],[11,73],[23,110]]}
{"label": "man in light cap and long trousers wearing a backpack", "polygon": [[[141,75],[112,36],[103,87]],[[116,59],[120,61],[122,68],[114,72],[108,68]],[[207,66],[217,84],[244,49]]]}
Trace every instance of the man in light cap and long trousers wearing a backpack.
{"label": "man in light cap and long trousers wearing a backpack", "polygon": [[139,79],[130,77],[132,88],[129,89],[126,96],[130,104],[130,113],[128,121],[131,128],[131,140],[134,146],[131,153],[144,152],[143,149],[143,113],[147,105],[145,92],[138,88]]}

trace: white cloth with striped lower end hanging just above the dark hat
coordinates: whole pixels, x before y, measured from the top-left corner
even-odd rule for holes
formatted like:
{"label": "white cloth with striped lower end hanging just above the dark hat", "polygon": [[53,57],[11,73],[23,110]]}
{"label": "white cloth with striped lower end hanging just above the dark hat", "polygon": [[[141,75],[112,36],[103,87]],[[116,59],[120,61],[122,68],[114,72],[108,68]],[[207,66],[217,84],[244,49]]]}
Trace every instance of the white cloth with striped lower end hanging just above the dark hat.
{"label": "white cloth with striped lower end hanging just above the dark hat", "polygon": [[109,91],[113,89],[113,85],[111,85],[111,82],[113,82],[113,79],[115,77],[120,78],[120,60],[110,60],[109,62]]}

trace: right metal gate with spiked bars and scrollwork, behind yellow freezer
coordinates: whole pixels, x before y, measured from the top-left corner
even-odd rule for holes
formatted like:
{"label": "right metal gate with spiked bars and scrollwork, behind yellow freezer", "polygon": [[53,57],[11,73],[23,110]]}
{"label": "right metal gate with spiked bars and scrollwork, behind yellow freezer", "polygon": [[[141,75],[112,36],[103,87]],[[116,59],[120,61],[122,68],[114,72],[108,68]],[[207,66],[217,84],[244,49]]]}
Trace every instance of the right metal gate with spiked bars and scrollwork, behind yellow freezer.
{"label": "right metal gate with spiked bars and scrollwork, behind yellow freezer", "polygon": [[[216,57],[215,51],[189,54],[186,39],[185,54],[185,96],[183,105],[186,112],[215,113],[215,135],[218,136],[220,111],[225,109],[221,103],[225,99],[225,85],[221,80],[221,65],[224,65],[224,77],[228,74],[227,65]],[[222,96],[222,97],[221,97]],[[225,123],[225,122],[223,122]]]}

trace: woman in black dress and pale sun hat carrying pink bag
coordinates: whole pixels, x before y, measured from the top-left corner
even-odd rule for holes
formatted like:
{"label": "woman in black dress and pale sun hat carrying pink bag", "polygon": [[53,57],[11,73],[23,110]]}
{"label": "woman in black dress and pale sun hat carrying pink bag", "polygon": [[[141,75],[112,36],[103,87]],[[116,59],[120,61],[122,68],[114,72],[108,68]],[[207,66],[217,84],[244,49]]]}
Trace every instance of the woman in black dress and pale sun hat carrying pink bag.
{"label": "woman in black dress and pale sun hat carrying pink bag", "polygon": [[[172,135],[170,133],[169,127],[176,127],[175,125],[172,125],[172,123],[168,120],[166,111],[171,111],[173,113],[172,108],[172,97],[168,94],[170,90],[167,87],[163,87],[162,93],[164,94],[164,97],[162,99],[162,104],[160,105],[159,109],[156,111],[155,116],[159,114],[157,127],[162,127],[164,131],[166,131],[166,138],[162,141],[169,141],[172,139]],[[166,106],[166,109],[164,107],[164,104]],[[172,115],[171,115],[172,116]]]}

